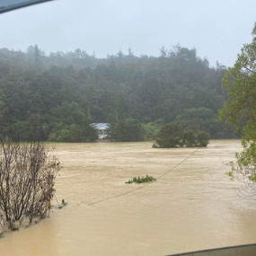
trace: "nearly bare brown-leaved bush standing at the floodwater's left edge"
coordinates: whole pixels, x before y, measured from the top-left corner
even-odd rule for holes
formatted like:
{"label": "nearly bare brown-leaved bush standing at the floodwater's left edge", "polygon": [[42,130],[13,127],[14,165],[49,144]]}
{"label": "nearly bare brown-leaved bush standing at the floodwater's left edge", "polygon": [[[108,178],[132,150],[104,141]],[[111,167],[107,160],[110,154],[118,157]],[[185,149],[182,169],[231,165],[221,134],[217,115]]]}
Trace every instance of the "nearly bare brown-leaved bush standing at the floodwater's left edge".
{"label": "nearly bare brown-leaved bush standing at the floodwater's left edge", "polygon": [[60,163],[40,142],[0,144],[0,228],[49,215]]}

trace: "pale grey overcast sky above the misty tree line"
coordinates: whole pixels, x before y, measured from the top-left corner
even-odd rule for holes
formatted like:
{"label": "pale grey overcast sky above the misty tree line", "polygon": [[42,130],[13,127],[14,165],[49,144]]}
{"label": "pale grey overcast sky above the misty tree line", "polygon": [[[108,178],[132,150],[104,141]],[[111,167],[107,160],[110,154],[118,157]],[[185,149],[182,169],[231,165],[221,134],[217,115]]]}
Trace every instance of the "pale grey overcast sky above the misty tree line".
{"label": "pale grey overcast sky above the misty tree line", "polygon": [[254,22],[255,0],[57,0],[1,14],[0,48],[159,56],[180,43],[233,66]]}

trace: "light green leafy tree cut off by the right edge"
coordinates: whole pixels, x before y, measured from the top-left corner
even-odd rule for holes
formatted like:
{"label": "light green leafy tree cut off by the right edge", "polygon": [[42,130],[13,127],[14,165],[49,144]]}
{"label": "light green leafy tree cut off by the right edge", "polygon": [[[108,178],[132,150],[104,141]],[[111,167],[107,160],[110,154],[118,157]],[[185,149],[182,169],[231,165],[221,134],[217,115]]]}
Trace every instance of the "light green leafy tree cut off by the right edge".
{"label": "light green leafy tree cut off by the right edge", "polygon": [[[232,171],[234,178],[242,175],[245,181],[256,181],[256,23],[252,30],[252,43],[244,44],[234,67],[229,68],[223,79],[223,88],[228,100],[219,118],[231,123],[236,130],[243,130],[243,152],[235,154],[237,159]],[[256,194],[256,193],[254,193]]]}

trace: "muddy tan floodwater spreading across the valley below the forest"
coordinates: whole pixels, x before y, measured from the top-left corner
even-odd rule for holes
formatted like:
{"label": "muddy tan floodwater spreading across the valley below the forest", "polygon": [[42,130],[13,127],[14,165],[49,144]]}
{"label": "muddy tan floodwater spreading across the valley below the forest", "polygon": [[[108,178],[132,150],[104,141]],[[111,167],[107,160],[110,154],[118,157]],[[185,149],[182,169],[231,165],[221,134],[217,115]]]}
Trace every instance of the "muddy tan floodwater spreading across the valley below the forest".
{"label": "muddy tan floodwater spreading across the valley below the forest", "polygon": [[[241,184],[225,176],[238,140],[196,152],[151,145],[57,144],[57,200],[68,205],[4,234],[0,255],[166,255],[256,243],[256,201],[238,197]],[[125,183],[146,174],[163,177],[139,190]]]}

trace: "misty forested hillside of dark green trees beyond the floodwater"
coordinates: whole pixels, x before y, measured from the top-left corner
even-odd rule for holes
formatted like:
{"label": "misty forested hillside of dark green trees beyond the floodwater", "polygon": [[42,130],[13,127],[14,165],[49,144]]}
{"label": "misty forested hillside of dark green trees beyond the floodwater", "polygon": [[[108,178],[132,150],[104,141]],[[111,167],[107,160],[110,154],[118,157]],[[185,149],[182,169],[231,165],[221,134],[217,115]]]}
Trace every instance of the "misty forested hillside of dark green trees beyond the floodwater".
{"label": "misty forested hillside of dark green trees beyond the floodwater", "polygon": [[[1,134],[7,128],[21,140],[31,134],[51,141],[93,141],[94,122],[110,122],[111,133],[129,127],[154,139],[165,123],[205,130],[213,138],[234,137],[218,121],[225,95],[225,66],[210,67],[196,49],[160,49],[160,57],[125,55],[97,58],[76,49],[50,53],[0,49]],[[116,136],[119,137],[119,136]]]}

